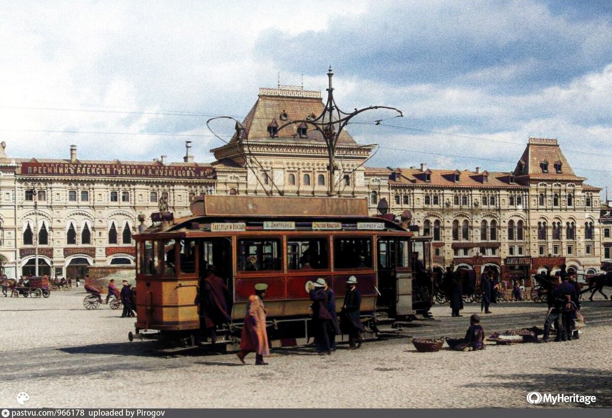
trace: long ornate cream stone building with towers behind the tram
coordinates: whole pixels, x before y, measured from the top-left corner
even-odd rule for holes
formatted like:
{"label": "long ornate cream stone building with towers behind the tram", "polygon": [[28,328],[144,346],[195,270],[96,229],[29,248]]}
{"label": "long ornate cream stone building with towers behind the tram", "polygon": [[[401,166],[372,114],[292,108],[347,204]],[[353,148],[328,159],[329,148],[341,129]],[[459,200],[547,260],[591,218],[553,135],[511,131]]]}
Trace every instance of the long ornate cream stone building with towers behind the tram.
{"label": "long ornate cream stone building with towers behind the tram", "polygon": [[339,196],[367,198],[372,215],[382,199],[394,215],[410,211],[419,233],[433,237],[439,269],[465,265],[509,280],[561,264],[594,273],[612,261],[610,228],[600,224],[612,217],[600,218],[600,189],[575,175],[556,140],[529,139],[508,172],[392,169],[364,167],[371,147],[344,131],[330,179],[319,132],[308,124],[278,129],[323,108],[319,91],[260,89],[230,142],[211,150],[212,164],[194,162],[189,148],[174,163],[81,161],[76,147],[69,159],[11,159],[2,146],[1,267],[9,276],[33,273],[36,247],[40,272],[51,275],[131,264],[136,219],[157,211],[161,197],[180,216],[202,193],[326,196],[329,181]]}

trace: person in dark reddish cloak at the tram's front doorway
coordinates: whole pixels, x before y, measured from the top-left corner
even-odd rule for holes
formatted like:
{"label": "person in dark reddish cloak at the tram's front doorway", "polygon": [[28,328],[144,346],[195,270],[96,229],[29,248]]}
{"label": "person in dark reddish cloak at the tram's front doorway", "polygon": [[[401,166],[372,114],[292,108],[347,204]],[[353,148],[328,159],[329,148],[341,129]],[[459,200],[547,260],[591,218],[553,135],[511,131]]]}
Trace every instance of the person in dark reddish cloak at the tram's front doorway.
{"label": "person in dark reddish cloak at the tram's front doorway", "polygon": [[225,297],[228,287],[222,278],[215,276],[215,271],[214,265],[208,266],[200,294],[200,315],[213,344],[217,342],[217,327],[230,322]]}

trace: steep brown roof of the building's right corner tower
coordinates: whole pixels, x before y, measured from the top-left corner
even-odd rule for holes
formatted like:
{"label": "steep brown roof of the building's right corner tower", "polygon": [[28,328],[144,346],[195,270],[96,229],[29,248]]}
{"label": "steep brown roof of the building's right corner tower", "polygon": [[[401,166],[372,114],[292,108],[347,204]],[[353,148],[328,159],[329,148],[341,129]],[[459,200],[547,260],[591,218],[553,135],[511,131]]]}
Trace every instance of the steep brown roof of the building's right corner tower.
{"label": "steep brown roof of the building's right corner tower", "polygon": [[[547,173],[542,172],[542,164],[545,162],[548,163]],[[556,172],[555,165],[558,163],[561,163],[560,173]],[[557,140],[547,138],[529,138],[523,155],[514,169],[514,174],[529,180],[585,180],[584,177],[578,177],[573,172]]]}

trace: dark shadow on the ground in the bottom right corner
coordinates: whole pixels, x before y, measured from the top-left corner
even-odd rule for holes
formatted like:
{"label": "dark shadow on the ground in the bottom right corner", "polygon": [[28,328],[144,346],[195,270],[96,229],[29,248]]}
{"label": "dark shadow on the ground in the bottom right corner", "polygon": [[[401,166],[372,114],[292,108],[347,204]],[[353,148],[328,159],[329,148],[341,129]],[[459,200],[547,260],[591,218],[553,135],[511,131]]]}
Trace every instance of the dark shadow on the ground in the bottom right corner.
{"label": "dark shadow on the ground in the bottom right corner", "polygon": [[[605,361],[608,361],[607,359]],[[499,375],[491,375],[490,378],[499,379]],[[551,368],[544,373],[518,373],[509,376],[501,376],[504,382],[482,382],[471,384],[469,387],[482,387],[491,390],[494,387],[502,389],[520,389],[525,396],[529,392],[563,393],[564,395],[594,395],[597,401],[591,405],[578,403],[561,404],[560,406],[583,407],[583,408],[610,408],[612,407],[612,373],[604,370],[593,370],[586,368]],[[527,401],[525,401],[525,406]],[[547,407],[550,405],[540,404]],[[559,406],[559,405],[557,405]]]}

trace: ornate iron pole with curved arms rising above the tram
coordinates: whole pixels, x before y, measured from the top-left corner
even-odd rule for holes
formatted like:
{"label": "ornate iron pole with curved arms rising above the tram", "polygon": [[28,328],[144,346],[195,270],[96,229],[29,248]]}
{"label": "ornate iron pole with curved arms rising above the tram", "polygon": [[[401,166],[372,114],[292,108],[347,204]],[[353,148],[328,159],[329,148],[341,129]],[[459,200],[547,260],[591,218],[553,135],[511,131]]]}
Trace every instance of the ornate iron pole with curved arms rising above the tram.
{"label": "ornate iron pole with curved arms rising above the tram", "polygon": [[403,116],[403,113],[401,113],[401,110],[389,106],[369,106],[364,107],[362,109],[355,108],[355,110],[350,113],[343,112],[342,110],[340,110],[334,99],[334,87],[332,85],[332,77],[334,77],[334,72],[332,71],[331,66],[327,71],[327,77],[329,77],[329,87],[327,88],[327,101],[323,112],[321,112],[321,114],[316,118],[294,120],[282,124],[278,127],[277,132],[274,136],[278,136],[278,132],[280,132],[283,128],[287,126],[303,123],[313,126],[317,131],[321,132],[321,135],[323,135],[323,139],[325,140],[328,157],[327,173],[329,174],[329,180],[327,181],[327,183],[329,184],[329,189],[327,193],[329,194],[329,196],[334,196],[336,194],[335,173],[340,170],[339,167],[335,164],[336,149],[338,146],[338,141],[340,140],[340,135],[346,124],[348,124],[349,121],[354,118],[354,116],[359,115],[359,113],[367,112],[368,110],[394,110],[395,112],[399,113],[399,115],[395,117],[401,117]]}

